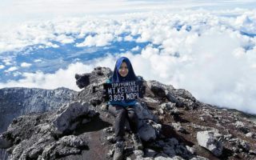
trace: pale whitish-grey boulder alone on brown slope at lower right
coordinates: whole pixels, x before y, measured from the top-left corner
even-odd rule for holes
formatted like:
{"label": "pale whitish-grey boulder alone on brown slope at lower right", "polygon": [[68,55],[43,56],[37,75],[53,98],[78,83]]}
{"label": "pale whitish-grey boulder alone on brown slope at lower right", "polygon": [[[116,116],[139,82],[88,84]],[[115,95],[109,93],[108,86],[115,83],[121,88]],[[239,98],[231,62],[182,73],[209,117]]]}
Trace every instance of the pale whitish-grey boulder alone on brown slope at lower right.
{"label": "pale whitish-grey boulder alone on brown slope at lower right", "polygon": [[213,131],[202,131],[197,133],[197,140],[199,146],[205,147],[207,150],[210,150],[214,155],[222,155],[222,142],[219,142],[216,137],[216,134]]}

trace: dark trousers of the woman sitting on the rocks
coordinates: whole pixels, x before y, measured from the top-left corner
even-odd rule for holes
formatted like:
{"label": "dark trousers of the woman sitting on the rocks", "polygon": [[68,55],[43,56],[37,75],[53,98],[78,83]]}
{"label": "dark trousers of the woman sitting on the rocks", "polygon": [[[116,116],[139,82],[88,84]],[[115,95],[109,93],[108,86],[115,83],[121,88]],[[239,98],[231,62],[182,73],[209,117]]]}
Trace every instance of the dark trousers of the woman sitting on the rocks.
{"label": "dark trousers of the woman sitting on the rocks", "polygon": [[130,130],[138,133],[138,115],[135,113],[134,106],[109,106],[110,114],[115,117],[114,133],[116,141],[124,141],[126,119],[130,124]]}

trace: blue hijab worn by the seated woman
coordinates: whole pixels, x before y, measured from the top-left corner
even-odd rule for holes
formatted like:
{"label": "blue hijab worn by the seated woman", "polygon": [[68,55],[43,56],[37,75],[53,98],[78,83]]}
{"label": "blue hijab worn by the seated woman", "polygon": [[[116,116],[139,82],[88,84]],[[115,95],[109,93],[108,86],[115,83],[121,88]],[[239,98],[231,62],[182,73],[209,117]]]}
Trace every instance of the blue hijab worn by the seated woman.
{"label": "blue hijab worn by the seated woman", "polygon": [[[126,77],[122,77],[118,70],[122,65],[122,62],[126,62],[127,68],[128,68],[128,74]],[[112,76],[112,82],[124,82],[124,81],[135,81],[137,79],[136,75],[134,74],[133,66],[130,64],[130,60],[126,57],[118,58],[117,62],[114,66],[114,73]]]}

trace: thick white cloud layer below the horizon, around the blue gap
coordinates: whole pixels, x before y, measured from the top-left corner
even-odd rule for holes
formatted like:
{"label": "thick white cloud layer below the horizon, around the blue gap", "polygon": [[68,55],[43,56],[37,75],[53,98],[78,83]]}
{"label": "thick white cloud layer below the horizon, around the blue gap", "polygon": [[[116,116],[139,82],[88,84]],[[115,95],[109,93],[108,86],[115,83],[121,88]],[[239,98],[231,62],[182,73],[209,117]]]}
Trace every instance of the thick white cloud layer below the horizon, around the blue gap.
{"label": "thick white cloud layer below the horizon, around the blue gap", "polygon": [[[183,10],[177,13],[125,14],[29,23],[1,33],[1,52],[24,54],[36,50],[110,47],[121,42],[148,42],[130,50],[110,53],[90,61],[78,61],[54,73],[21,72],[10,59],[2,58],[0,71],[22,75],[0,87],[26,86],[78,90],[74,74],[96,66],[114,67],[119,56],[130,58],[136,74],[176,88],[189,90],[202,102],[256,114],[256,10]],[[79,40],[79,41],[78,41]],[[128,47],[128,46],[127,46]],[[139,53],[138,53],[139,52]],[[34,59],[40,62],[40,59]],[[13,64],[14,63],[14,64]],[[30,68],[30,62],[22,62]],[[65,81],[63,81],[65,79]]]}

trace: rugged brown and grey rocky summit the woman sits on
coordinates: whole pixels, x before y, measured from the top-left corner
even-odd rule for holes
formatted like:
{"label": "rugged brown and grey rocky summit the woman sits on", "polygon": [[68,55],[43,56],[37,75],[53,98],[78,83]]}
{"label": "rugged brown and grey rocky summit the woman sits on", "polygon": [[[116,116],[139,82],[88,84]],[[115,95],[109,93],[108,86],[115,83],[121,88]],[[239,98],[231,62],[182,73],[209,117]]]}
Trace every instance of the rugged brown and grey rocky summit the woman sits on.
{"label": "rugged brown and grey rocky summit the woman sits on", "polygon": [[[97,67],[76,74],[83,90],[58,110],[14,118],[0,135],[8,159],[112,159],[114,117],[102,101],[102,83],[112,74]],[[124,159],[256,159],[256,124],[245,114],[199,102],[190,92],[145,81],[135,105],[144,146],[136,150],[126,122]]]}

